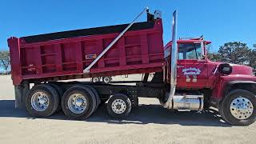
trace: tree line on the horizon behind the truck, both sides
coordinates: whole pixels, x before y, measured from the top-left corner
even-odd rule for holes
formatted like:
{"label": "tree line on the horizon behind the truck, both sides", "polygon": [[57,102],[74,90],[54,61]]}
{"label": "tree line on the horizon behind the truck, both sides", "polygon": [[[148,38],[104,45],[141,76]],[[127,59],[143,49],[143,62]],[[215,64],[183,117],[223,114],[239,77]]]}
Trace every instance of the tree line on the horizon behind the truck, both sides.
{"label": "tree line on the horizon behind the truck, both sides", "polygon": [[[252,48],[243,42],[226,42],[220,46],[218,52],[208,50],[208,58],[211,61],[229,62],[251,66],[256,69],[256,44]],[[8,50],[0,51],[0,68],[10,73],[10,53]]]}

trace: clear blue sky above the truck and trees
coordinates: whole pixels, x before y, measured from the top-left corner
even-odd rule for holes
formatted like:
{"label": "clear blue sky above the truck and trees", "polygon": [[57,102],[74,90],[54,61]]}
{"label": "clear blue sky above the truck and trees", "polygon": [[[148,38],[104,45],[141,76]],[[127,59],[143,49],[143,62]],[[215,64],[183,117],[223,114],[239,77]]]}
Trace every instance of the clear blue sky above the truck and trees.
{"label": "clear blue sky above the truck and trees", "polygon": [[[107,0],[14,1],[0,4],[0,50],[6,39],[62,30],[129,23],[144,7],[162,10],[164,42],[170,41],[171,17],[178,9],[178,37],[204,35],[218,50],[224,42],[256,43],[254,0]],[[146,14],[139,20],[146,20]]]}

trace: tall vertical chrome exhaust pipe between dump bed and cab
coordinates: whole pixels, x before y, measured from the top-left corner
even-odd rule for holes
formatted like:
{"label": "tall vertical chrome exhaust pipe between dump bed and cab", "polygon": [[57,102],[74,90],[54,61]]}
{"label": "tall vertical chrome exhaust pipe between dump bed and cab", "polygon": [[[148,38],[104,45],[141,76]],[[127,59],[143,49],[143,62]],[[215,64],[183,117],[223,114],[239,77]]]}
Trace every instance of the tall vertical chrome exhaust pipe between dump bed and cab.
{"label": "tall vertical chrome exhaust pipe between dump bed and cab", "polygon": [[172,49],[170,62],[170,93],[166,94],[167,101],[162,103],[166,109],[173,108],[173,97],[177,85],[177,60],[178,60],[178,46],[177,46],[177,18],[178,11],[173,13],[173,30],[172,30]]}

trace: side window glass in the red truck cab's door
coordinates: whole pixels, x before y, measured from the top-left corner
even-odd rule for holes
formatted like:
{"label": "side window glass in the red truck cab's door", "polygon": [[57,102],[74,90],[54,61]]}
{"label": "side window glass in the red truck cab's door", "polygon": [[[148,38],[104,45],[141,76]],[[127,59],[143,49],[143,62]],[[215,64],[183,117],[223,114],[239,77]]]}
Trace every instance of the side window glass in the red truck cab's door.
{"label": "side window glass in the red truck cab's door", "polygon": [[186,43],[178,45],[178,59],[202,59],[200,43]]}

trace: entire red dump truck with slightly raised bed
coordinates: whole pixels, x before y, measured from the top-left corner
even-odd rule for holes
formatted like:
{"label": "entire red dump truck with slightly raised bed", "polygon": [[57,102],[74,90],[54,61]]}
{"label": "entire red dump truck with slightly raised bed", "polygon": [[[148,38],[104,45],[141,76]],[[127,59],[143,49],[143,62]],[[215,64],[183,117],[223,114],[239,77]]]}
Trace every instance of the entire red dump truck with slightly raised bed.
{"label": "entire red dump truck with slightly raised bed", "polygon": [[[135,22],[145,11],[147,21]],[[252,68],[211,62],[206,50],[210,42],[202,37],[177,40],[177,11],[172,41],[163,46],[161,11],[142,13],[125,25],[9,38],[15,106],[25,107],[34,117],[62,109],[68,118],[83,120],[107,102],[113,118],[125,118],[138,106],[138,97],[146,97],[158,98],[164,108],[178,111],[214,106],[232,125],[255,121]],[[143,74],[143,78],[115,84],[62,82],[122,74]],[[136,85],[124,85],[128,82]]]}

